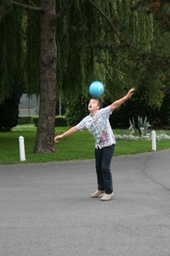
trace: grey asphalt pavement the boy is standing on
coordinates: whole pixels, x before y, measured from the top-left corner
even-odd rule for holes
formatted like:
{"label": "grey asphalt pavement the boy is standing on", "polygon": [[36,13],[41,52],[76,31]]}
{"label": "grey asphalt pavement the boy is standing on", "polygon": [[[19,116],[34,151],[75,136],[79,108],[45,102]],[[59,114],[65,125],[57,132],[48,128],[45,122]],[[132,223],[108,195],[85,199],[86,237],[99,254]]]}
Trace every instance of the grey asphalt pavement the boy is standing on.
{"label": "grey asphalt pavement the boy is standing on", "polygon": [[111,201],[91,198],[94,160],[0,166],[0,255],[169,256],[169,166],[113,157]]}

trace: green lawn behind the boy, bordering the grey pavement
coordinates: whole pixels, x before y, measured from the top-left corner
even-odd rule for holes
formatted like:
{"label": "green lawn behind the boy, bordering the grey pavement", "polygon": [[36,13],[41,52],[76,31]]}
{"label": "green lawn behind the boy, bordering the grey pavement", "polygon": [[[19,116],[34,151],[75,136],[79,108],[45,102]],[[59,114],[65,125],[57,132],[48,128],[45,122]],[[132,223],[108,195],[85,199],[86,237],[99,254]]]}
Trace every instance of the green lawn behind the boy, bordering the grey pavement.
{"label": "green lawn behind the boy, bordering the grey pavement", "polygon": [[[78,131],[70,137],[65,137],[59,143],[55,143],[56,153],[34,154],[36,130],[33,125],[17,125],[13,131],[0,132],[0,165],[94,159],[94,138],[88,131]],[[55,135],[67,130],[68,127],[55,128]],[[170,135],[170,131],[156,131],[156,133]],[[20,162],[20,136],[25,139],[26,161],[24,162]],[[170,141],[157,141],[156,148],[157,151],[169,149]],[[150,151],[150,141],[117,141],[114,155],[141,154]]]}

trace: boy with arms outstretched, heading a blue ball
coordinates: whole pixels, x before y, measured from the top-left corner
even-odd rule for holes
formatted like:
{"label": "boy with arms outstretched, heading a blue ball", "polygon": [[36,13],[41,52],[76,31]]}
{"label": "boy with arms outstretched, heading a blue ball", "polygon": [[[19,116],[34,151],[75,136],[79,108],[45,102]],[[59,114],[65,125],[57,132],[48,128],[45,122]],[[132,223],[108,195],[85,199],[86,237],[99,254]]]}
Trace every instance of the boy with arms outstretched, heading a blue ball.
{"label": "boy with arms outstretched, heading a blue ball", "polygon": [[113,102],[106,108],[100,107],[99,100],[92,98],[88,103],[89,115],[70,130],[54,137],[54,142],[58,143],[59,139],[67,137],[76,131],[88,130],[95,139],[95,167],[98,181],[98,189],[92,197],[98,197],[105,193],[101,201],[109,201],[113,197],[112,176],[111,176],[111,158],[115,149],[115,136],[111,130],[109,122],[110,114],[126,102],[133,95],[133,88],[127,92],[127,95]]}

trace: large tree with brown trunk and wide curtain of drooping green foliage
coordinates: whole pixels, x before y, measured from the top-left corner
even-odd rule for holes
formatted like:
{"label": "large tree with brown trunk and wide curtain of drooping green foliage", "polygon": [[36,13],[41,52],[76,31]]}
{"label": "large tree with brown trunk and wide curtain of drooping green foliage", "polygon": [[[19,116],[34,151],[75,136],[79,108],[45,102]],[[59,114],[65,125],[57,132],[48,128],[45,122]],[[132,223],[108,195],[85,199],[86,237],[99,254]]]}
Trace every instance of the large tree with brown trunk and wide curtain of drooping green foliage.
{"label": "large tree with brown trunk and wide curtain of drooping green foliage", "polygon": [[[29,94],[40,94],[36,153],[55,151],[59,91],[68,99],[88,95],[88,84],[100,79],[106,84],[106,98],[113,100],[135,86],[139,100],[160,106],[162,84],[169,79],[170,33],[168,1],[159,3],[0,1],[0,100],[13,92],[16,77],[18,86],[25,84],[23,90],[26,86]],[[162,44],[165,38],[167,44]]]}

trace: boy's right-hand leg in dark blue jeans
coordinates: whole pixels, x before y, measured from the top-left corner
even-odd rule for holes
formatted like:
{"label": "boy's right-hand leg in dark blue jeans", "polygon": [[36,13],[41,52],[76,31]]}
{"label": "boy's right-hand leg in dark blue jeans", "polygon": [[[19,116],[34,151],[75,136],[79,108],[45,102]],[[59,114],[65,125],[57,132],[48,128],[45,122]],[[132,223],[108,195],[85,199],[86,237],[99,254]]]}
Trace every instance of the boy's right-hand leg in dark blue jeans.
{"label": "boy's right-hand leg in dark blue jeans", "polygon": [[113,192],[112,175],[111,175],[111,159],[114,153],[115,145],[102,148],[101,168],[102,176],[105,185],[105,193],[111,194]]}

